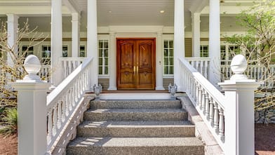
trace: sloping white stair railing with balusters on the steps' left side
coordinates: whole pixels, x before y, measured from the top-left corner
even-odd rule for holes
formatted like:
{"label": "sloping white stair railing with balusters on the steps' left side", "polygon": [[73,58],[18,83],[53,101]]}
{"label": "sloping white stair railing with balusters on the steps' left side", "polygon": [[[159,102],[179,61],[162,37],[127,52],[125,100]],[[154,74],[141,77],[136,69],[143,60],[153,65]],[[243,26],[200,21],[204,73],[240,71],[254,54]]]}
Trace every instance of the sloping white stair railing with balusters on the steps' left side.
{"label": "sloping white stair railing with balusters on the steps' left side", "polygon": [[47,96],[48,152],[53,151],[62,132],[72,121],[70,118],[81,104],[84,91],[91,88],[92,62],[93,59],[84,61]]}

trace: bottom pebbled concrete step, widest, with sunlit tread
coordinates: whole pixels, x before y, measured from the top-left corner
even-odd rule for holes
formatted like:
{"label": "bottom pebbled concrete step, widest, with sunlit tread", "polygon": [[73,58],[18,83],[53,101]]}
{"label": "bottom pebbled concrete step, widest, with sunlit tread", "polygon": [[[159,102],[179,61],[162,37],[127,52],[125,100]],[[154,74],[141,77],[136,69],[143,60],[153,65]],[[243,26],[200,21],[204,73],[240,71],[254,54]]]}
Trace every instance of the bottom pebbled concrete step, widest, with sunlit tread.
{"label": "bottom pebbled concrete step, widest, with sunlit tread", "polygon": [[67,155],[203,155],[196,137],[78,137],[67,146]]}

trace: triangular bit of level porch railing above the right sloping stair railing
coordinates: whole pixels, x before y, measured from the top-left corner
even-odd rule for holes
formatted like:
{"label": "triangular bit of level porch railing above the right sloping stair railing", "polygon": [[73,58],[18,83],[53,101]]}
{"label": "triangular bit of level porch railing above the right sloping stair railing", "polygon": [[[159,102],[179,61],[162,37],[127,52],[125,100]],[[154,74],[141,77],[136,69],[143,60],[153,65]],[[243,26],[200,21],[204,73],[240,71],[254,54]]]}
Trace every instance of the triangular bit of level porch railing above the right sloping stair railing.
{"label": "triangular bit of level porch railing above the right sloping stair railing", "polygon": [[198,72],[200,72],[206,79],[208,79],[209,74],[209,62],[210,58],[185,58],[192,67],[194,67]]}

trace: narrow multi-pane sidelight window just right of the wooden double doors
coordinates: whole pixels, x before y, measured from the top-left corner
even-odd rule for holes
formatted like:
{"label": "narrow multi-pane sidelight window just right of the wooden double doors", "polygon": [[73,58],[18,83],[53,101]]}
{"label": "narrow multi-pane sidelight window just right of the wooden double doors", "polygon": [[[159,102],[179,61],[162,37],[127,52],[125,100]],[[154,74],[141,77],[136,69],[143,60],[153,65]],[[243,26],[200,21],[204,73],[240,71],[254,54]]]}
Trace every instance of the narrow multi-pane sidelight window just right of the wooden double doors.
{"label": "narrow multi-pane sidelight window just right of the wooden double doors", "polygon": [[164,41],[163,48],[163,69],[164,74],[174,74],[174,43],[173,41]]}

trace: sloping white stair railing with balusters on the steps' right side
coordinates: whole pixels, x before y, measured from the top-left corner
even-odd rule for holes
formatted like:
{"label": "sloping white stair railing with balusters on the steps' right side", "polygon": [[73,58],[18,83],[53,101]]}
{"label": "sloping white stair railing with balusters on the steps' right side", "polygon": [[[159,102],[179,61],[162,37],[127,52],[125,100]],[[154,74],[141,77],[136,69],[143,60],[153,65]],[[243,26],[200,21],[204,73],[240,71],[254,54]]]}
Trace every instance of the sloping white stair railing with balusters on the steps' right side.
{"label": "sloping white stair railing with balusters on the steps' right side", "polygon": [[225,97],[202,74],[184,59],[179,59],[180,87],[201,115],[209,130],[224,149],[224,101]]}

